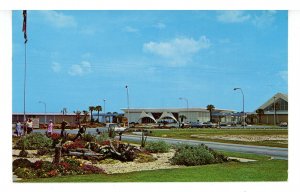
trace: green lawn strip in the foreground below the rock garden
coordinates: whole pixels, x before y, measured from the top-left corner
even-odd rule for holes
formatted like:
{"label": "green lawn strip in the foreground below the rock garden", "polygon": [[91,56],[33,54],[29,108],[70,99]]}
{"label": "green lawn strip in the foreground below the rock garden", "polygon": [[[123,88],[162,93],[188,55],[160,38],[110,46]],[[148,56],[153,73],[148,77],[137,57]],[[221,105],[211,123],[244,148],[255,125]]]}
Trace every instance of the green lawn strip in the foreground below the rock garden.
{"label": "green lawn strip in the foreground below the rock garden", "polygon": [[288,162],[265,160],[230,162],[177,169],[141,171],[113,175],[80,175],[22,180],[22,182],[220,182],[287,181]]}

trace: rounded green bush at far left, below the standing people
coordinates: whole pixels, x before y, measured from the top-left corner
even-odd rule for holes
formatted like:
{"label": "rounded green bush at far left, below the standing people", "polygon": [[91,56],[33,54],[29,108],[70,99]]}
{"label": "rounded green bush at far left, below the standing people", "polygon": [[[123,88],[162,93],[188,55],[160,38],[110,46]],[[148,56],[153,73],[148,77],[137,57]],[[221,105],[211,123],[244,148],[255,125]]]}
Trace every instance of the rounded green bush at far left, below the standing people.
{"label": "rounded green bush at far left, below the standing people", "polygon": [[42,133],[31,133],[20,138],[16,149],[40,149],[43,147],[51,147],[52,140]]}

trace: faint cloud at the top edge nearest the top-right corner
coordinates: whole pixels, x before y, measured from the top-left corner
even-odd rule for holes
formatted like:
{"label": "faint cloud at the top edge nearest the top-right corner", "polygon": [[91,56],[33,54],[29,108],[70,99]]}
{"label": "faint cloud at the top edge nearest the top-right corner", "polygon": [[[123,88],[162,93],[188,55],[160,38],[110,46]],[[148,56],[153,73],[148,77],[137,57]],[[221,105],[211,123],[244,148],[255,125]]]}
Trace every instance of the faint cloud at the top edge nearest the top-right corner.
{"label": "faint cloud at the top edge nearest the top-right corner", "polygon": [[272,25],[275,20],[276,11],[263,11],[261,15],[254,16],[252,23],[259,28]]}

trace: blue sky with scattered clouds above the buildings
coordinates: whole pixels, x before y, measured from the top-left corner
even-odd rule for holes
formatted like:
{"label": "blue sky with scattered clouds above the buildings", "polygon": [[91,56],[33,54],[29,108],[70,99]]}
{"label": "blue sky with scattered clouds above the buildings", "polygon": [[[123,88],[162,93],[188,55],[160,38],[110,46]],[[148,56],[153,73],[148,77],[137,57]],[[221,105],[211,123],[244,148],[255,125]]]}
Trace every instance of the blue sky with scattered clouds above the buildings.
{"label": "blue sky with scattered clouds above the buildings", "polygon": [[[13,12],[13,112],[23,112],[22,12]],[[28,11],[26,111],[103,106],[254,111],[288,92],[287,11]]]}

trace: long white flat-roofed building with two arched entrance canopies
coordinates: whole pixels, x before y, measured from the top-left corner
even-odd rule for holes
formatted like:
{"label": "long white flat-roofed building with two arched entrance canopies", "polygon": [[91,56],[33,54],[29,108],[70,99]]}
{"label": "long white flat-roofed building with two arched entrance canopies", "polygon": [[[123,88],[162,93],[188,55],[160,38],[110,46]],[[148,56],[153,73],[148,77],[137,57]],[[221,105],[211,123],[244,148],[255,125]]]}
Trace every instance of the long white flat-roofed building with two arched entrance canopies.
{"label": "long white flat-roofed building with two arched entrance canopies", "polygon": [[[169,123],[187,122],[207,122],[210,121],[210,114],[206,108],[130,108],[121,109],[125,117],[132,123],[159,123],[167,121]],[[214,112],[231,113],[232,110],[215,109]],[[230,122],[231,119],[224,119]]]}

